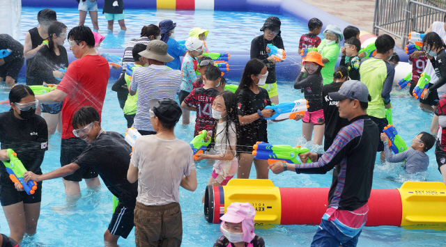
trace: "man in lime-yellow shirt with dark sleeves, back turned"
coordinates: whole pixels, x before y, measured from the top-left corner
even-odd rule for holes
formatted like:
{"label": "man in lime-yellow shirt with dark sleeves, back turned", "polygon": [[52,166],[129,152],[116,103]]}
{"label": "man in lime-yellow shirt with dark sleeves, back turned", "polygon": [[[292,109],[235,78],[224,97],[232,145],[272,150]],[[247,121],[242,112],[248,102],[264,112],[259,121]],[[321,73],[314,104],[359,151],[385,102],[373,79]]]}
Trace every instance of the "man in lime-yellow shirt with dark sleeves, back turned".
{"label": "man in lime-yellow shirt with dark sleeves, back turned", "polygon": [[[392,107],[390,91],[392,91],[395,69],[387,60],[394,53],[395,40],[390,35],[383,34],[376,38],[375,46],[375,57],[361,62],[360,76],[371,96],[367,115],[378,125],[379,132],[383,133],[384,127],[388,125],[385,109]],[[381,152],[381,158],[384,159],[384,144],[380,140],[379,142],[377,151]]]}

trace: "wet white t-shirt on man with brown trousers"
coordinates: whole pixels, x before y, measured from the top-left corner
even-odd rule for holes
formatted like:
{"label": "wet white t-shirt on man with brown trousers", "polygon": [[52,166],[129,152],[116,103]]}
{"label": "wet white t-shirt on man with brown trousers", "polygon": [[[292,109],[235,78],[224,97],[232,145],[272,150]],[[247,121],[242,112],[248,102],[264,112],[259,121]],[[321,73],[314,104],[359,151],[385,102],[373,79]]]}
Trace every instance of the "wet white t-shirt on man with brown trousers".
{"label": "wet white t-shirt on man with brown trousers", "polygon": [[195,170],[189,143],[153,135],[137,138],[130,163],[139,169],[137,202],[147,206],[180,202],[180,182]]}

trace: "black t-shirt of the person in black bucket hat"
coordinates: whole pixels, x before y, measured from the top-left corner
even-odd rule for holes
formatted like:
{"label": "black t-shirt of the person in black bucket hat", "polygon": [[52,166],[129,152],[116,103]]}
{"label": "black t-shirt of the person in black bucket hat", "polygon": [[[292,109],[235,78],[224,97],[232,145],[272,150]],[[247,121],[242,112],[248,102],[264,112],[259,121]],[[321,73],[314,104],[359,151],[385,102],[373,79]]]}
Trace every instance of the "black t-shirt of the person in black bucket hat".
{"label": "black t-shirt of the person in black bucket hat", "polygon": [[266,45],[272,44],[275,45],[279,49],[285,49],[284,48],[284,42],[282,41],[282,37],[277,35],[272,40],[266,40],[263,38],[263,34],[257,36],[252,40],[251,42],[251,59],[252,58],[259,58],[263,63],[265,63],[266,67],[268,68],[268,77],[266,78],[266,83],[275,83],[277,81],[276,78],[276,65],[275,63],[271,63],[267,60],[268,58],[268,52],[266,52]]}

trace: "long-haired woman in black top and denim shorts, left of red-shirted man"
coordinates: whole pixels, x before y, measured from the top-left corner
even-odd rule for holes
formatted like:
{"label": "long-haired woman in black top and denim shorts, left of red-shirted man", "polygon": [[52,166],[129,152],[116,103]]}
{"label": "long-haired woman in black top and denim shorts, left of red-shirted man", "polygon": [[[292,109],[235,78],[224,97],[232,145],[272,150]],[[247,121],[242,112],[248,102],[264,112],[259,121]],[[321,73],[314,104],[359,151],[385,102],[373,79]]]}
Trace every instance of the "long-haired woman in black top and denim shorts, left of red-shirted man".
{"label": "long-haired woman in black top and denim shorts, left of red-shirted man", "polygon": [[[65,72],[59,71],[68,67],[68,56],[63,43],[67,38],[67,26],[61,22],[53,22],[48,28],[48,44],[40,48],[29,66],[29,80],[33,85],[59,84]],[[56,129],[62,132],[62,104],[40,104],[42,116],[47,121],[48,134]]]}

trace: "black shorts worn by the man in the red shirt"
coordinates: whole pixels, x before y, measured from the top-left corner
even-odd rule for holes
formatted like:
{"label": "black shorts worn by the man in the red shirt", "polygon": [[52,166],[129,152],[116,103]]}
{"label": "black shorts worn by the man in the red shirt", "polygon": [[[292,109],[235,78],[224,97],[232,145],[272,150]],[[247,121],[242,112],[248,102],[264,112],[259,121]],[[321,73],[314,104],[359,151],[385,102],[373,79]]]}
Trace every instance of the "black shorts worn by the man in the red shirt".
{"label": "black shorts worn by the man in the red shirt", "polygon": [[[61,166],[71,164],[85,150],[88,144],[77,137],[62,139],[61,141]],[[82,179],[98,177],[98,172],[93,167],[80,167],[75,173],[63,177],[64,180],[81,182]]]}

